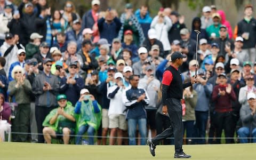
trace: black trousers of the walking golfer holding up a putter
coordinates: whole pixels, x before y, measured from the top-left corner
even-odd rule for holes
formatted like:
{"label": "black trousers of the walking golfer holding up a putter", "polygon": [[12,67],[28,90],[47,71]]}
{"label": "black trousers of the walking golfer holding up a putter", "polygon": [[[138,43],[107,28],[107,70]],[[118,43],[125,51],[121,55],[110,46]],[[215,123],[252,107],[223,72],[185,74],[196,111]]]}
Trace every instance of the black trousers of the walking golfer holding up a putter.
{"label": "black trousers of the walking golfer holding up a putter", "polygon": [[161,134],[156,135],[155,138],[152,139],[152,142],[155,145],[170,137],[172,134],[174,135],[174,145],[175,145],[175,153],[182,153],[182,145],[183,145],[183,123],[182,123],[182,107],[180,103],[180,99],[169,98],[167,99],[167,108],[168,114],[170,116],[171,125],[169,128],[164,130]]}

